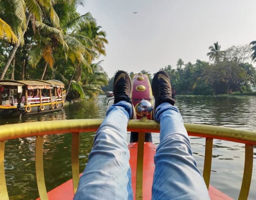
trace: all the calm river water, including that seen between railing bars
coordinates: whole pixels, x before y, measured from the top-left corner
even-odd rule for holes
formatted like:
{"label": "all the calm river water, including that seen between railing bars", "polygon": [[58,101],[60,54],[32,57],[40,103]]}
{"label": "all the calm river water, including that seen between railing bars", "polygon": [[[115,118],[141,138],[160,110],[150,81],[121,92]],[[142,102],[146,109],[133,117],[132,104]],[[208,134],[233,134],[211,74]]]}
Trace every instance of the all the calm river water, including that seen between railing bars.
{"label": "all the calm river water, including that seen between railing bars", "polygon": [[[96,101],[70,104],[52,114],[0,119],[0,124],[30,121],[104,118],[107,110],[105,96]],[[110,102],[112,103],[112,102]],[[184,122],[221,125],[256,130],[256,97],[177,97],[176,105]],[[80,136],[80,172],[87,162],[95,133]],[[129,135],[128,135],[129,137]],[[194,157],[202,171],[204,139],[191,137]],[[158,134],[153,142],[159,143]],[[256,155],[256,151],[254,151]],[[214,140],[211,185],[237,199],[244,166],[244,145]],[[256,199],[256,157],[249,199]],[[44,167],[47,190],[71,178],[71,134],[44,137]],[[35,137],[7,141],[5,147],[5,173],[10,199],[35,199],[38,197],[35,180]]]}

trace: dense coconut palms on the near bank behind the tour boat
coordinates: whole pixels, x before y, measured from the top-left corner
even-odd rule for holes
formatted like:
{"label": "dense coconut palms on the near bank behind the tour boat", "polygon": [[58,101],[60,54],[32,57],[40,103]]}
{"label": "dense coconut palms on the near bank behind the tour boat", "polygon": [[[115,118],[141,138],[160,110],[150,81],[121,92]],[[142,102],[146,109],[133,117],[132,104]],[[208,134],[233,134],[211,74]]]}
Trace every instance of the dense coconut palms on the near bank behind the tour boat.
{"label": "dense coconut palms on the near bank behind the tour boat", "polygon": [[65,83],[67,98],[95,97],[107,84],[106,32],[82,0],[0,0],[0,80]]}

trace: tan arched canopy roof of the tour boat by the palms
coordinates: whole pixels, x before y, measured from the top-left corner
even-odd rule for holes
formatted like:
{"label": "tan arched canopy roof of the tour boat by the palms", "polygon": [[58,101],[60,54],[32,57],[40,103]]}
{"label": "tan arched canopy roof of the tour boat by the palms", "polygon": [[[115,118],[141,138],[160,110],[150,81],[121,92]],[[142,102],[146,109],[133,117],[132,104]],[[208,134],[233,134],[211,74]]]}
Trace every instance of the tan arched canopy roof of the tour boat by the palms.
{"label": "tan arched canopy roof of the tour boat by the palms", "polygon": [[8,88],[15,88],[17,86],[26,86],[30,89],[51,89],[51,88],[64,88],[64,83],[58,80],[30,80],[30,81],[14,81],[14,80],[0,80],[0,86]]}

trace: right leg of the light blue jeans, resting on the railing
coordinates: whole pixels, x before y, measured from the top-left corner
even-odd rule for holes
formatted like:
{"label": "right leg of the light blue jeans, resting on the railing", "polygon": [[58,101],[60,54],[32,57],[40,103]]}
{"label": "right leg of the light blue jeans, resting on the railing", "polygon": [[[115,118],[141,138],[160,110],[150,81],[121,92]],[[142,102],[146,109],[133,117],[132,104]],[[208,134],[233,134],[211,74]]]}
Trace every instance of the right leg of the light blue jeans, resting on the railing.
{"label": "right leg of the light blue jeans, resting on the railing", "polygon": [[160,122],[160,144],[154,158],[152,200],[209,199],[178,108],[162,103],[156,109],[156,120]]}

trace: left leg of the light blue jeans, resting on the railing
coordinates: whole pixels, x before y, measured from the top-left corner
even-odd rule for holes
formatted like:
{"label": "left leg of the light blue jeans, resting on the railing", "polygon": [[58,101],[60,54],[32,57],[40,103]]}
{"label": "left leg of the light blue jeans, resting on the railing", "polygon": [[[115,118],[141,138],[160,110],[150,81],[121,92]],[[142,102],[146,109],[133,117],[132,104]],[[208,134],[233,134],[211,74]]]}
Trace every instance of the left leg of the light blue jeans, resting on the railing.
{"label": "left leg of the light blue jeans, resting on the railing", "polygon": [[132,200],[127,124],[131,104],[111,105],[100,125],[74,200]]}

